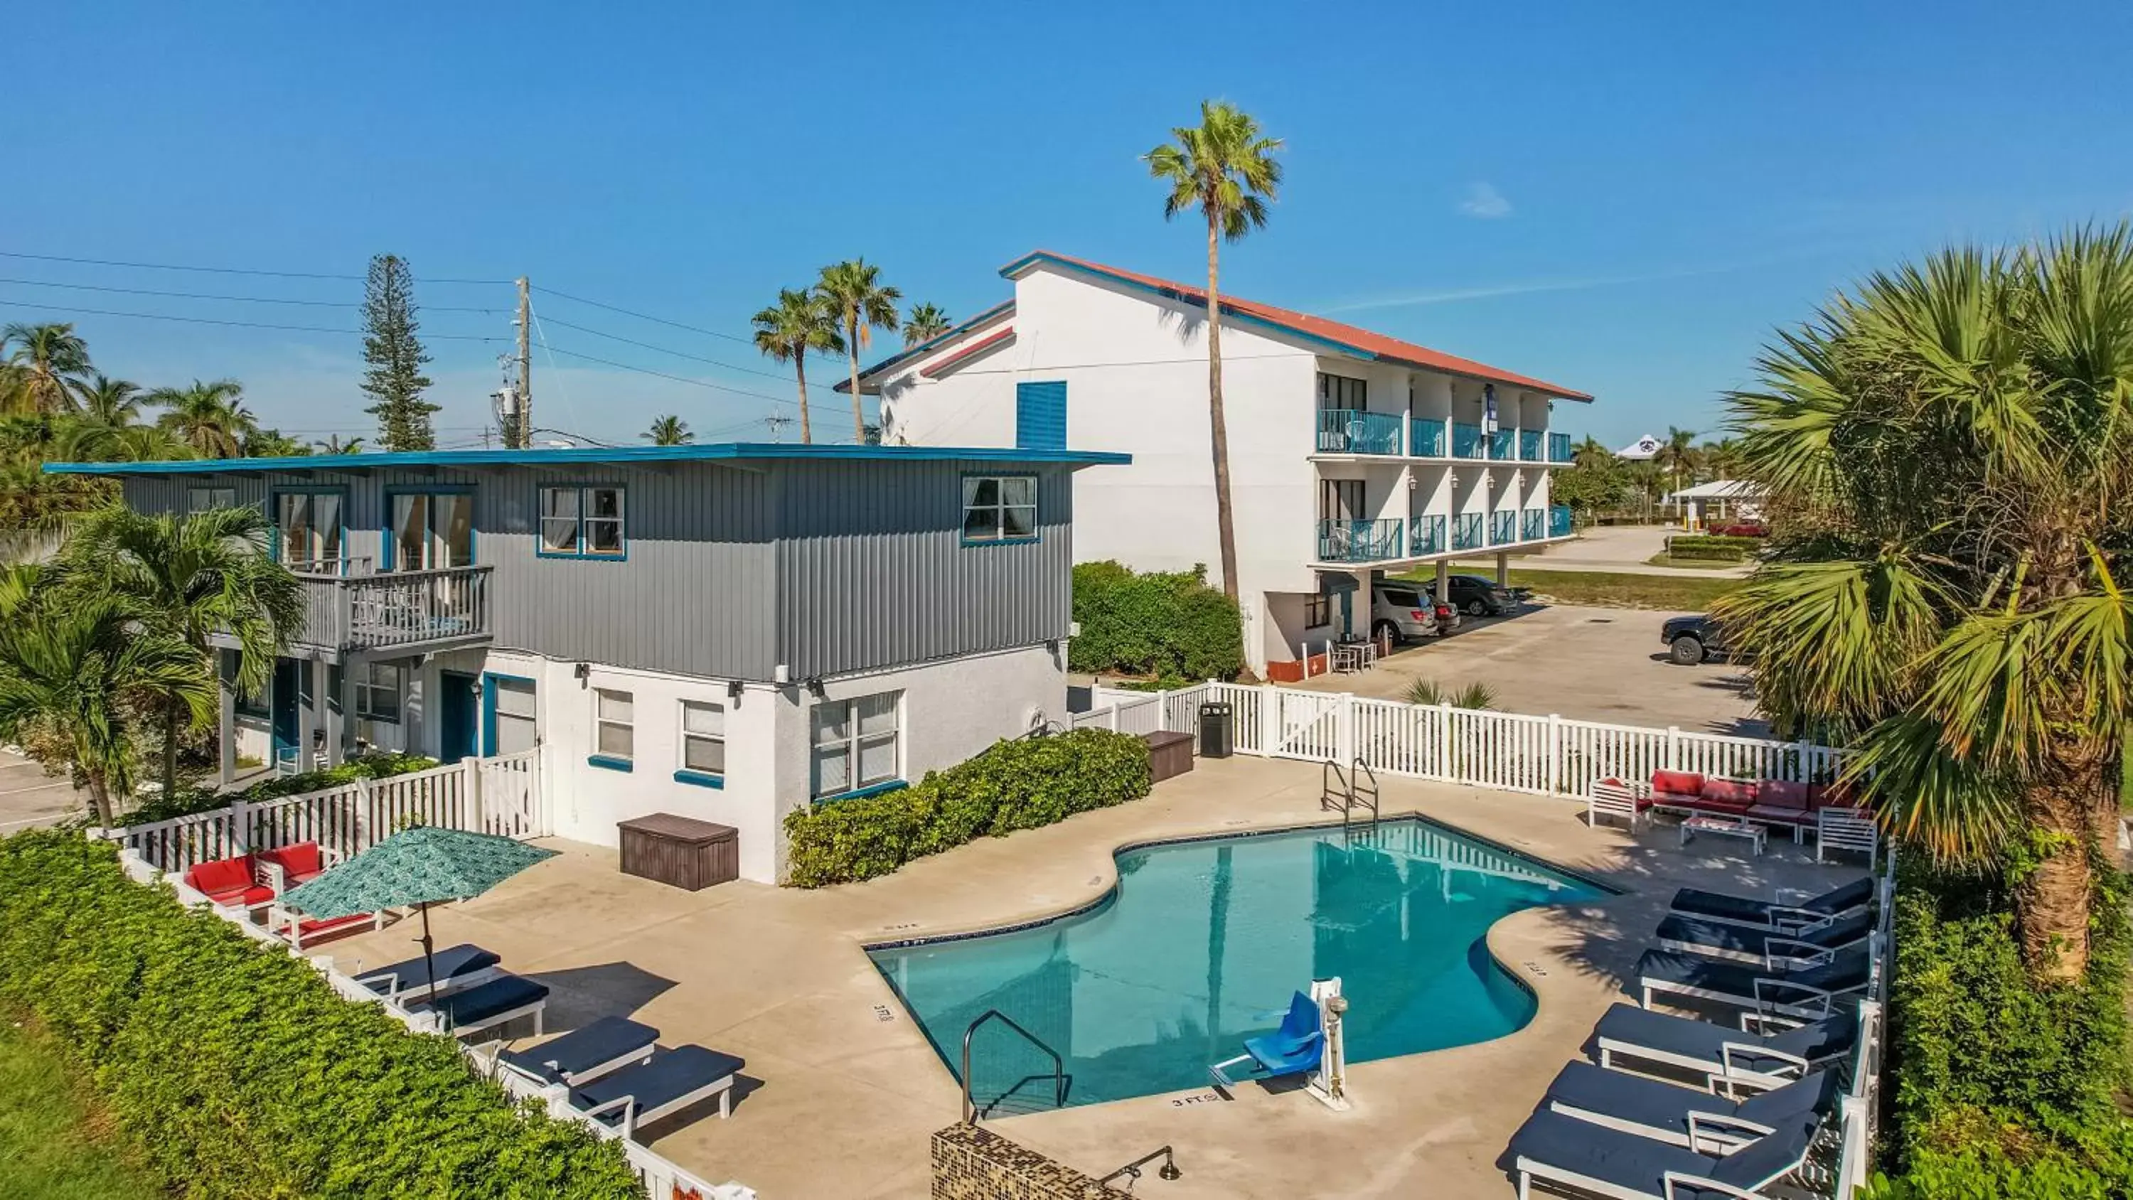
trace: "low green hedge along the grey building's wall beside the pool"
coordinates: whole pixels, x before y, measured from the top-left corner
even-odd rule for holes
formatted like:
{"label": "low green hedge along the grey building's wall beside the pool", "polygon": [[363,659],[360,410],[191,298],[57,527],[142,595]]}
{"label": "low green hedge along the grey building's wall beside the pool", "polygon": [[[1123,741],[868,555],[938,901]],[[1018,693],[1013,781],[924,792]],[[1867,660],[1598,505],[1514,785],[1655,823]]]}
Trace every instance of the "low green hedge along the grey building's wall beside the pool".
{"label": "low green hedge along the grey building's wall beside the pool", "polygon": [[1148,744],[1109,729],[996,742],[915,787],[785,816],[791,887],[885,876],[983,836],[1037,829],[1148,795]]}

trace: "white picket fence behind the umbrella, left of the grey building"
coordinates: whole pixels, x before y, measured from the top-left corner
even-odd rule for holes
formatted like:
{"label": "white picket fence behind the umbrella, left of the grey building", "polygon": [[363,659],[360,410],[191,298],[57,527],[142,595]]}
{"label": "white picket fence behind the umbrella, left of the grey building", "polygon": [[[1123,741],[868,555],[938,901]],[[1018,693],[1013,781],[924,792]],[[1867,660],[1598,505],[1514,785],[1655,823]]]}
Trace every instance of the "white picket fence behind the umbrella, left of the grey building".
{"label": "white picket fence behind the umbrella, left of the grey building", "polygon": [[414,825],[546,838],[550,829],[540,801],[538,755],[540,750],[525,750],[463,759],[267,804],[239,801],[213,812],[113,829],[111,838],[171,874],[294,842],[318,842],[352,857]]}

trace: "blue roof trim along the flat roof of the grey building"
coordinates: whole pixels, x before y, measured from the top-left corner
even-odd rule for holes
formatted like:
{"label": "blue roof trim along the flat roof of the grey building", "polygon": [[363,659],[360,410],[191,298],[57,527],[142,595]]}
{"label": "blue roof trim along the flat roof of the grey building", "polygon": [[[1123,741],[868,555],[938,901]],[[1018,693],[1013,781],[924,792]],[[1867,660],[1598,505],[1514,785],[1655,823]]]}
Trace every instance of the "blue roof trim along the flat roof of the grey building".
{"label": "blue roof trim along the flat roof of the grey building", "polygon": [[623,445],[614,450],[416,450],[401,454],[299,454],[290,458],[188,458],[175,463],[45,463],[49,475],[213,475],[224,471],[363,471],[373,467],[557,467],[565,463],[736,463],[828,458],[862,463],[1064,463],[1124,467],[1133,454],[1109,450],[1015,450],[1005,445],[798,445],[789,441],[715,441],[708,445]]}

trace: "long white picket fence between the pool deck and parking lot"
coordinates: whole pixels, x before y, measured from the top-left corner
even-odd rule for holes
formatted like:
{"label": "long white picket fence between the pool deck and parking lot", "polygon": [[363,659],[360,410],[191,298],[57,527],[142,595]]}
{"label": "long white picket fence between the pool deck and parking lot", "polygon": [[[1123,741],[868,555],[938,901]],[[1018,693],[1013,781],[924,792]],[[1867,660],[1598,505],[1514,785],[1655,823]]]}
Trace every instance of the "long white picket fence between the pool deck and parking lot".
{"label": "long white picket fence between the pool deck and parking lot", "polygon": [[1201,703],[1229,703],[1239,755],[1310,759],[1378,774],[1412,776],[1538,795],[1585,795],[1595,778],[1649,780],[1651,772],[1696,772],[1751,780],[1834,778],[1843,750],[1608,725],[1568,716],[1487,712],[1448,703],[1401,703],[1350,693],[1205,682],[1167,693],[1094,688],[1096,708],[1075,729],[1152,733],[1199,729]]}

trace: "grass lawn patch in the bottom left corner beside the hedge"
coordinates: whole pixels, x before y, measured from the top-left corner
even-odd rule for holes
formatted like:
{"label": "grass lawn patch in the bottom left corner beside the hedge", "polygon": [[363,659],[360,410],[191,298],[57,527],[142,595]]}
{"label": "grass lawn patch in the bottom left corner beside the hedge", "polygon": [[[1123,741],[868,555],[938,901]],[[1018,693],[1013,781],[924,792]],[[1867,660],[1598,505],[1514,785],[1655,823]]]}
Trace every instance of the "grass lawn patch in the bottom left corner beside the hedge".
{"label": "grass lawn patch in the bottom left corner beside the hedge", "polygon": [[166,1196],[98,1125],[66,1066],[0,1019],[0,1196],[145,1200]]}

